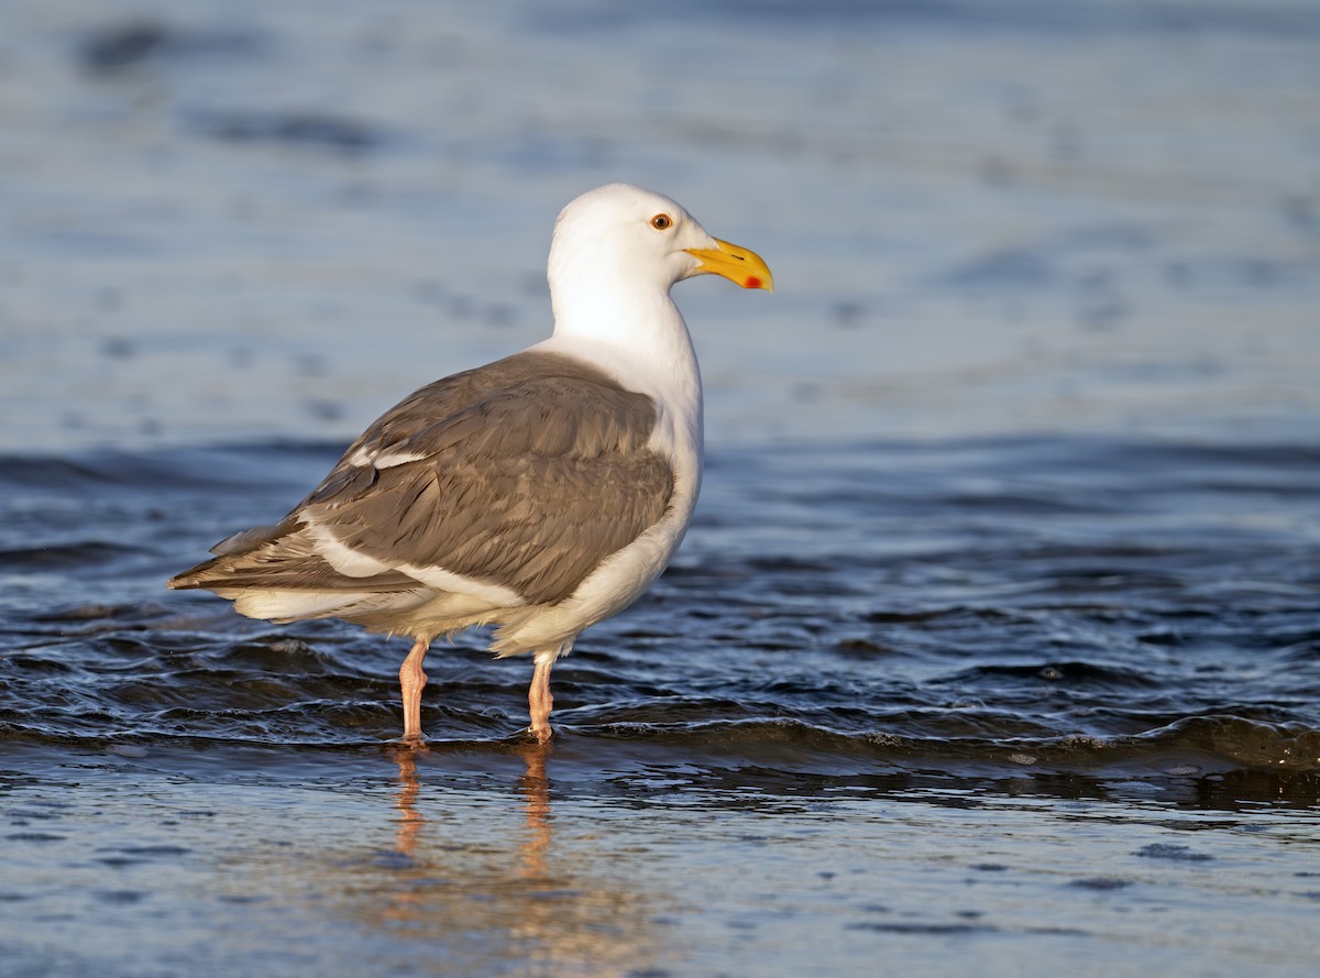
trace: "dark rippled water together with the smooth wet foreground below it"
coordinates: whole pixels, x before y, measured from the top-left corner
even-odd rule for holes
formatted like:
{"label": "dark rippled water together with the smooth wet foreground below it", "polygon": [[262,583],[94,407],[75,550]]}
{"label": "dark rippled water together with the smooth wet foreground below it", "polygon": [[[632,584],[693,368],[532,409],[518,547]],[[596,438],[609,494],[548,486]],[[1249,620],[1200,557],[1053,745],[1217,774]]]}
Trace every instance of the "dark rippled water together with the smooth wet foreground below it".
{"label": "dark rippled water together with the smooth wet foreground below it", "polygon": [[4,461],[20,973],[1309,969],[1312,451],[717,454],[676,566],[556,668],[553,746],[462,640],[416,756],[407,643],[156,590],[333,457]]}

